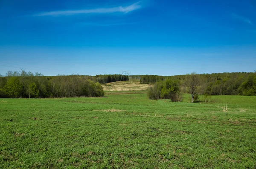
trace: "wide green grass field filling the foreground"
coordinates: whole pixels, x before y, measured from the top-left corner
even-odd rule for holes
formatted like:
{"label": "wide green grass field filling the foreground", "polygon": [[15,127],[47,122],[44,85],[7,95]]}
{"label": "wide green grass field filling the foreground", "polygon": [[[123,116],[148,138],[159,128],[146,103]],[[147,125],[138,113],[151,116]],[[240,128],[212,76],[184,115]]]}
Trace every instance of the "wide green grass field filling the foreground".
{"label": "wide green grass field filling the foreground", "polygon": [[0,99],[0,168],[256,168],[256,97],[184,97]]}

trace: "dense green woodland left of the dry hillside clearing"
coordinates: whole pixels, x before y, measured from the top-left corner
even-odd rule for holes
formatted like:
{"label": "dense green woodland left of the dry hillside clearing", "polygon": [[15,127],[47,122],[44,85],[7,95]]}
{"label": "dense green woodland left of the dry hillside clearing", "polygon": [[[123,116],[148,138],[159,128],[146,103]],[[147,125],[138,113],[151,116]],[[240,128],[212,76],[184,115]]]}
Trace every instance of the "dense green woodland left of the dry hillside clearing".
{"label": "dense green woodland left of the dry hillside clearing", "polygon": [[38,72],[8,71],[5,77],[0,77],[0,97],[101,97],[104,92],[100,83],[115,82],[121,78],[128,80],[128,76],[121,74],[43,76]]}

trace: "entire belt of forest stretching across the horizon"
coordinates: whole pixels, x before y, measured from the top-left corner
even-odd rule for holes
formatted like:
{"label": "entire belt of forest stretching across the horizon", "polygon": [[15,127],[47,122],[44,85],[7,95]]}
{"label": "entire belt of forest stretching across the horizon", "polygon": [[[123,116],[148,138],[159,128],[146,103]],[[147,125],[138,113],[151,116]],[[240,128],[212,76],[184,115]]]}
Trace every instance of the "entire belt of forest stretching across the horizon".
{"label": "entire belt of forest stretching across the horizon", "polygon": [[[256,72],[194,75],[198,79],[196,86],[198,95],[256,95]],[[102,97],[104,96],[104,91],[101,84],[120,80],[125,81],[129,80],[129,78],[140,79],[142,84],[154,84],[172,79],[179,83],[182,92],[190,93],[188,80],[191,76],[192,74],[175,76],[59,74],[58,76],[44,76],[38,72],[33,74],[24,70],[20,72],[8,71],[5,77],[0,77],[0,98]],[[158,83],[159,85],[163,87],[163,83]],[[157,95],[154,96],[154,98],[158,97]]]}

